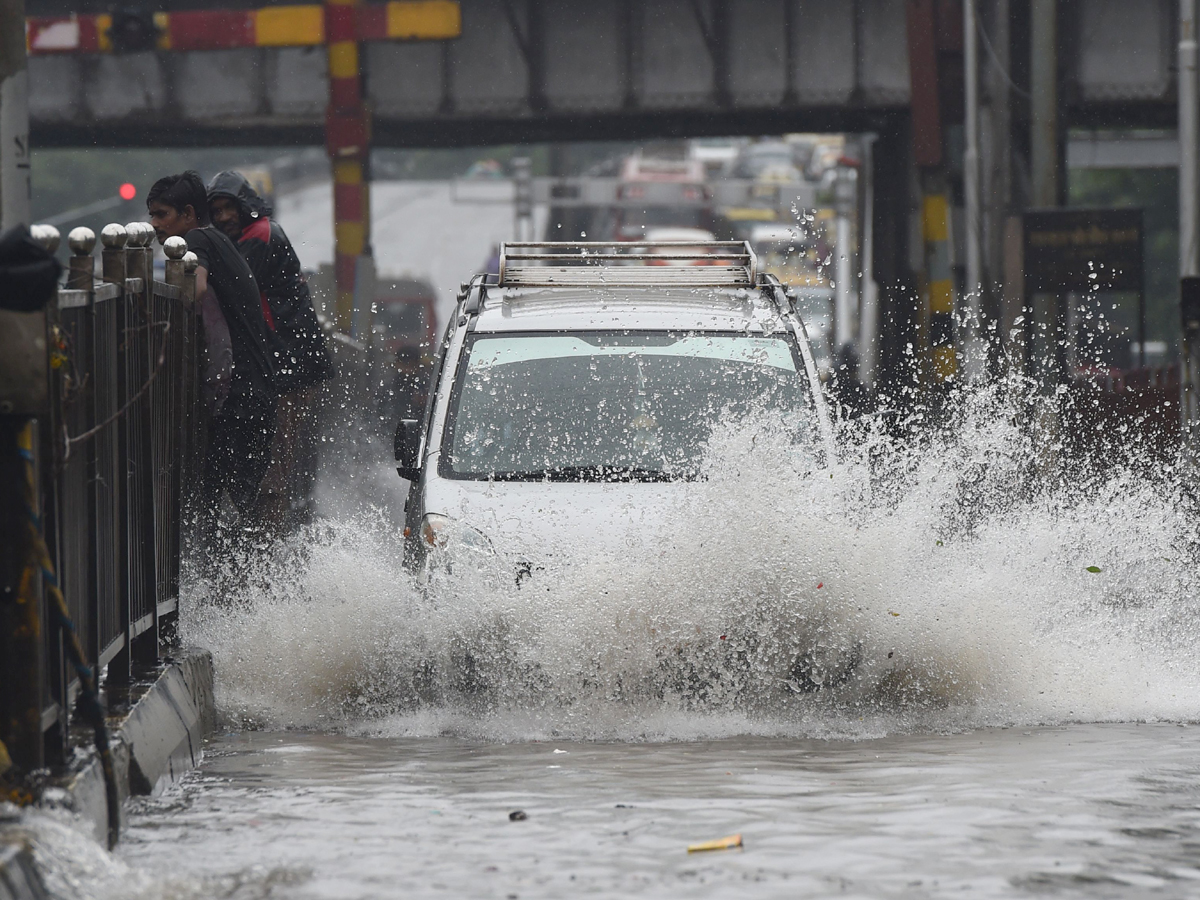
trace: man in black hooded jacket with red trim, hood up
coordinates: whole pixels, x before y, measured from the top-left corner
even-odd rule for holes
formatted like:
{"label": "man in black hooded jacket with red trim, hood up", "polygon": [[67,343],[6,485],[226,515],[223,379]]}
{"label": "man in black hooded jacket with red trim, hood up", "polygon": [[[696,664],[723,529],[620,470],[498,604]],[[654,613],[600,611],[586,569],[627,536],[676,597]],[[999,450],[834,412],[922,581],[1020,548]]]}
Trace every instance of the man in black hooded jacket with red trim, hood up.
{"label": "man in black hooded jacket with red trim, hood up", "polygon": [[215,175],[208,199],[212,223],[236,242],[254,272],[281,347],[276,385],[284,396],[260,509],[276,524],[296,523],[307,517],[316,480],[314,386],[332,374],[332,359],[300,260],[266,199],[238,172]]}

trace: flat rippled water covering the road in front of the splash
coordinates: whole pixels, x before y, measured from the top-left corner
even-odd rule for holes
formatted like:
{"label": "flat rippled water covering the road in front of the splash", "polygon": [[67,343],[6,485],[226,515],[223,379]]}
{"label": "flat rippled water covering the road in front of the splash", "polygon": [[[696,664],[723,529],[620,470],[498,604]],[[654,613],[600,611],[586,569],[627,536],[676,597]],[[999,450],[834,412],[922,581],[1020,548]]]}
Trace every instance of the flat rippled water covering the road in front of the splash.
{"label": "flat rippled water covering the road in front of the splash", "polygon": [[[1200,728],[232,733],[130,820],[120,856],[169,898],[1186,896],[1200,890]],[[732,833],[744,850],[686,853]]]}

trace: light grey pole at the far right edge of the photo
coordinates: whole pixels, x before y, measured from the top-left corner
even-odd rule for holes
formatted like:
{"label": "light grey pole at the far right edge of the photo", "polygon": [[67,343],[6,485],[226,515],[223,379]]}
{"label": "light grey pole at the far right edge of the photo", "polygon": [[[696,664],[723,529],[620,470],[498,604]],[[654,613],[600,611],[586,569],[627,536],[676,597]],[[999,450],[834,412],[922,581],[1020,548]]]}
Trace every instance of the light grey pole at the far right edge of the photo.
{"label": "light grey pole at the far right edge of the photo", "polygon": [[1200,90],[1196,83],[1196,0],[1180,0],[1180,415],[1184,451],[1195,456],[1200,421]]}

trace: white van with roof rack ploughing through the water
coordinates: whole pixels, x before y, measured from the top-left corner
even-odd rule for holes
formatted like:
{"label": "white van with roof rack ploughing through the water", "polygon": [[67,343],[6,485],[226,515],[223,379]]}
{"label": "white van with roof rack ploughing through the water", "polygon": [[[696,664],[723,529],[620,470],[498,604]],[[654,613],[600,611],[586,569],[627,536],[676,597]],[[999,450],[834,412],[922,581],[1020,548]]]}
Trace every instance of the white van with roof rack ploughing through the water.
{"label": "white van with roof rack ploughing through the water", "polygon": [[506,244],[439,346],[424,419],[395,451],[412,485],[406,562],[511,560],[607,542],[702,478],[713,428],[781,415],[833,437],[796,302],[740,241]]}

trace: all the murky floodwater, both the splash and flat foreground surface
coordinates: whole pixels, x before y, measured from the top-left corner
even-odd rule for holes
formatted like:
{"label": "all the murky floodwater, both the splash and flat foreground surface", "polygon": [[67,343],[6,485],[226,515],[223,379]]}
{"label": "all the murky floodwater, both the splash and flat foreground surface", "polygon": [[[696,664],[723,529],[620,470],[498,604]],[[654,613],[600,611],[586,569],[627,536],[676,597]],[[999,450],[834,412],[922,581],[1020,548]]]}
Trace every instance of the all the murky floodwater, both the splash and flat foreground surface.
{"label": "all the murky floodwater, both the splash and flat foreground surface", "polygon": [[[353,473],[359,499],[190,583],[222,733],[56,883],[1200,895],[1194,475],[1068,464],[1043,402],[1001,383],[944,428],[863,425],[832,472],[731,428],[656,527],[520,587],[480,564],[421,589],[397,481]],[[43,859],[86,857],[47,829]]]}

